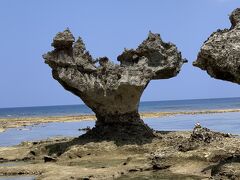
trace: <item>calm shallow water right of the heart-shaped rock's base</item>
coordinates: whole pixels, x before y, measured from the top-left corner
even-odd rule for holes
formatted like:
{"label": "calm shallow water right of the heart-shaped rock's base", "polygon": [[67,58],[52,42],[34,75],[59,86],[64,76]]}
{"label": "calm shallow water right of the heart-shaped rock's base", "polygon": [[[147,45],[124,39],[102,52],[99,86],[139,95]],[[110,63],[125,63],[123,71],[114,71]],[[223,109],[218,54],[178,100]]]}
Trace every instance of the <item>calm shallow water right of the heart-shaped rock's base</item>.
{"label": "calm shallow water right of the heart-shaped rock's base", "polygon": [[164,131],[192,130],[199,122],[211,130],[240,134],[240,112],[148,118],[145,122],[155,130]]}

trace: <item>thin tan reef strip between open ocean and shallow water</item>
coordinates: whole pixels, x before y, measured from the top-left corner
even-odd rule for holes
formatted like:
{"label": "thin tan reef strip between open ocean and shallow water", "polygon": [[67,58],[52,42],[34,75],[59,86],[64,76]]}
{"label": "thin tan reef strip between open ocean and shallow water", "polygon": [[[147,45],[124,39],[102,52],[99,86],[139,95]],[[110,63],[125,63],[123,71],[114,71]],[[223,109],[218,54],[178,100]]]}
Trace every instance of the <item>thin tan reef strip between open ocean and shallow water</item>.
{"label": "thin tan reef strip between open ocean and shallow water", "polygon": [[[240,109],[218,109],[218,110],[201,110],[201,111],[180,111],[180,112],[142,112],[141,118],[160,118],[175,115],[196,115],[196,114],[214,114],[214,113],[230,113],[240,112]],[[9,128],[18,128],[24,126],[32,126],[41,123],[52,122],[79,122],[96,120],[93,114],[78,116],[52,116],[52,117],[23,117],[23,118],[0,118],[0,133]]]}

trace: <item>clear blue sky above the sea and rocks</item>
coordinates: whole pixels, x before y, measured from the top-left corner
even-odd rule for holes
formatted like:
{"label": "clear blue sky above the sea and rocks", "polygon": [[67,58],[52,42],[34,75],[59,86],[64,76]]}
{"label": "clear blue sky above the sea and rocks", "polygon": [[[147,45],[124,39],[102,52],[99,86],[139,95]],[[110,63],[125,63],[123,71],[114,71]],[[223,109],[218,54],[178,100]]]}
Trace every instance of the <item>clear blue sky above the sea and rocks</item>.
{"label": "clear blue sky above the sea and rocks", "polygon": [[52,78],[42,54],[70,28],[94,58],[116,62],[149,30],[177,45],[189,60],[177,77],[151,81],[141,101],[239,97],[240,87],[192,66],[203,42],[229,28],[239,0],[1,0],[0,108],[82,104]]}

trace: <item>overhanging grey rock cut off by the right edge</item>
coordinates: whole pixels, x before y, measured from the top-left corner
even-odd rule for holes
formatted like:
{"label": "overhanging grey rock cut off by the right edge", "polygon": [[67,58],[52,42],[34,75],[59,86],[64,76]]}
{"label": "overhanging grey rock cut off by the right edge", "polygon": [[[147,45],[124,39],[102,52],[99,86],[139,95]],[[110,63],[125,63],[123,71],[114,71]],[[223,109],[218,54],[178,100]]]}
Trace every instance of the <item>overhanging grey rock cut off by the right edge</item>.
{"label": "overhanging grey rock cut off by the right edge", "polygon": [[240,8],[230,21],[230,29],[217,30],[204,42],[193,65],[211,77],[240,84]]}

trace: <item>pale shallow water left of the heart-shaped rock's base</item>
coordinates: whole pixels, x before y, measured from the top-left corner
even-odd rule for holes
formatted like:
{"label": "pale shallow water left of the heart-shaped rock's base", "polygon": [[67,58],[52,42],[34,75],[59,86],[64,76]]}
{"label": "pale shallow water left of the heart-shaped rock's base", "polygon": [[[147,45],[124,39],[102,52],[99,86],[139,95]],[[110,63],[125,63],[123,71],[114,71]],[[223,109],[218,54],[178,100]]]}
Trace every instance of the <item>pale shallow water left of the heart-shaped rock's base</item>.
{"label": "pale shallow water left of the heart-shaped rock's base", "polygon": [[0,133],[0,146],[13,146],[23,141],[36,141],[50,137],[76,137],[84,131],[79,128],[94,126],[94,121],[45,123],[8,129]]}

